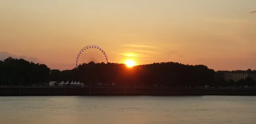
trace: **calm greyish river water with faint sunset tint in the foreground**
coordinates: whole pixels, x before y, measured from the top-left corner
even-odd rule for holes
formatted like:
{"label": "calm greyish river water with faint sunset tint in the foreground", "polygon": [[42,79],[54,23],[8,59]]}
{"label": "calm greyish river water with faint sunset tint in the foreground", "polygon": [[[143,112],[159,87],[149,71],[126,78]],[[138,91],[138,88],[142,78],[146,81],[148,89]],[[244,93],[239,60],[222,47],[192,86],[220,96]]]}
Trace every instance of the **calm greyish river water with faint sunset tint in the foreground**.
{"label": "calm greyish river water with faint sunset tint in the foreground", "polygon": [[256,96],[4,96],[0,124],[256,124]]}

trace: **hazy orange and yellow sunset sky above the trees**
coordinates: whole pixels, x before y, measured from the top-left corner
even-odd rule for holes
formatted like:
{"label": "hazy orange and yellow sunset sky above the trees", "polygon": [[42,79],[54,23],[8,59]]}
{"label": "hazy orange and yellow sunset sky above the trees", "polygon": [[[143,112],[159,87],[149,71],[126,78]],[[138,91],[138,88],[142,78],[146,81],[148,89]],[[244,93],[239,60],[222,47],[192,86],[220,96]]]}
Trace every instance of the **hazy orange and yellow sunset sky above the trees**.
{"label": "hazy orange and yellow sunset sky above the trees", "polygon": [[256,0],[0,0],[0,59],[72,69],[80,49],[98,45],[115,63],[256,69],[252,11]]}

